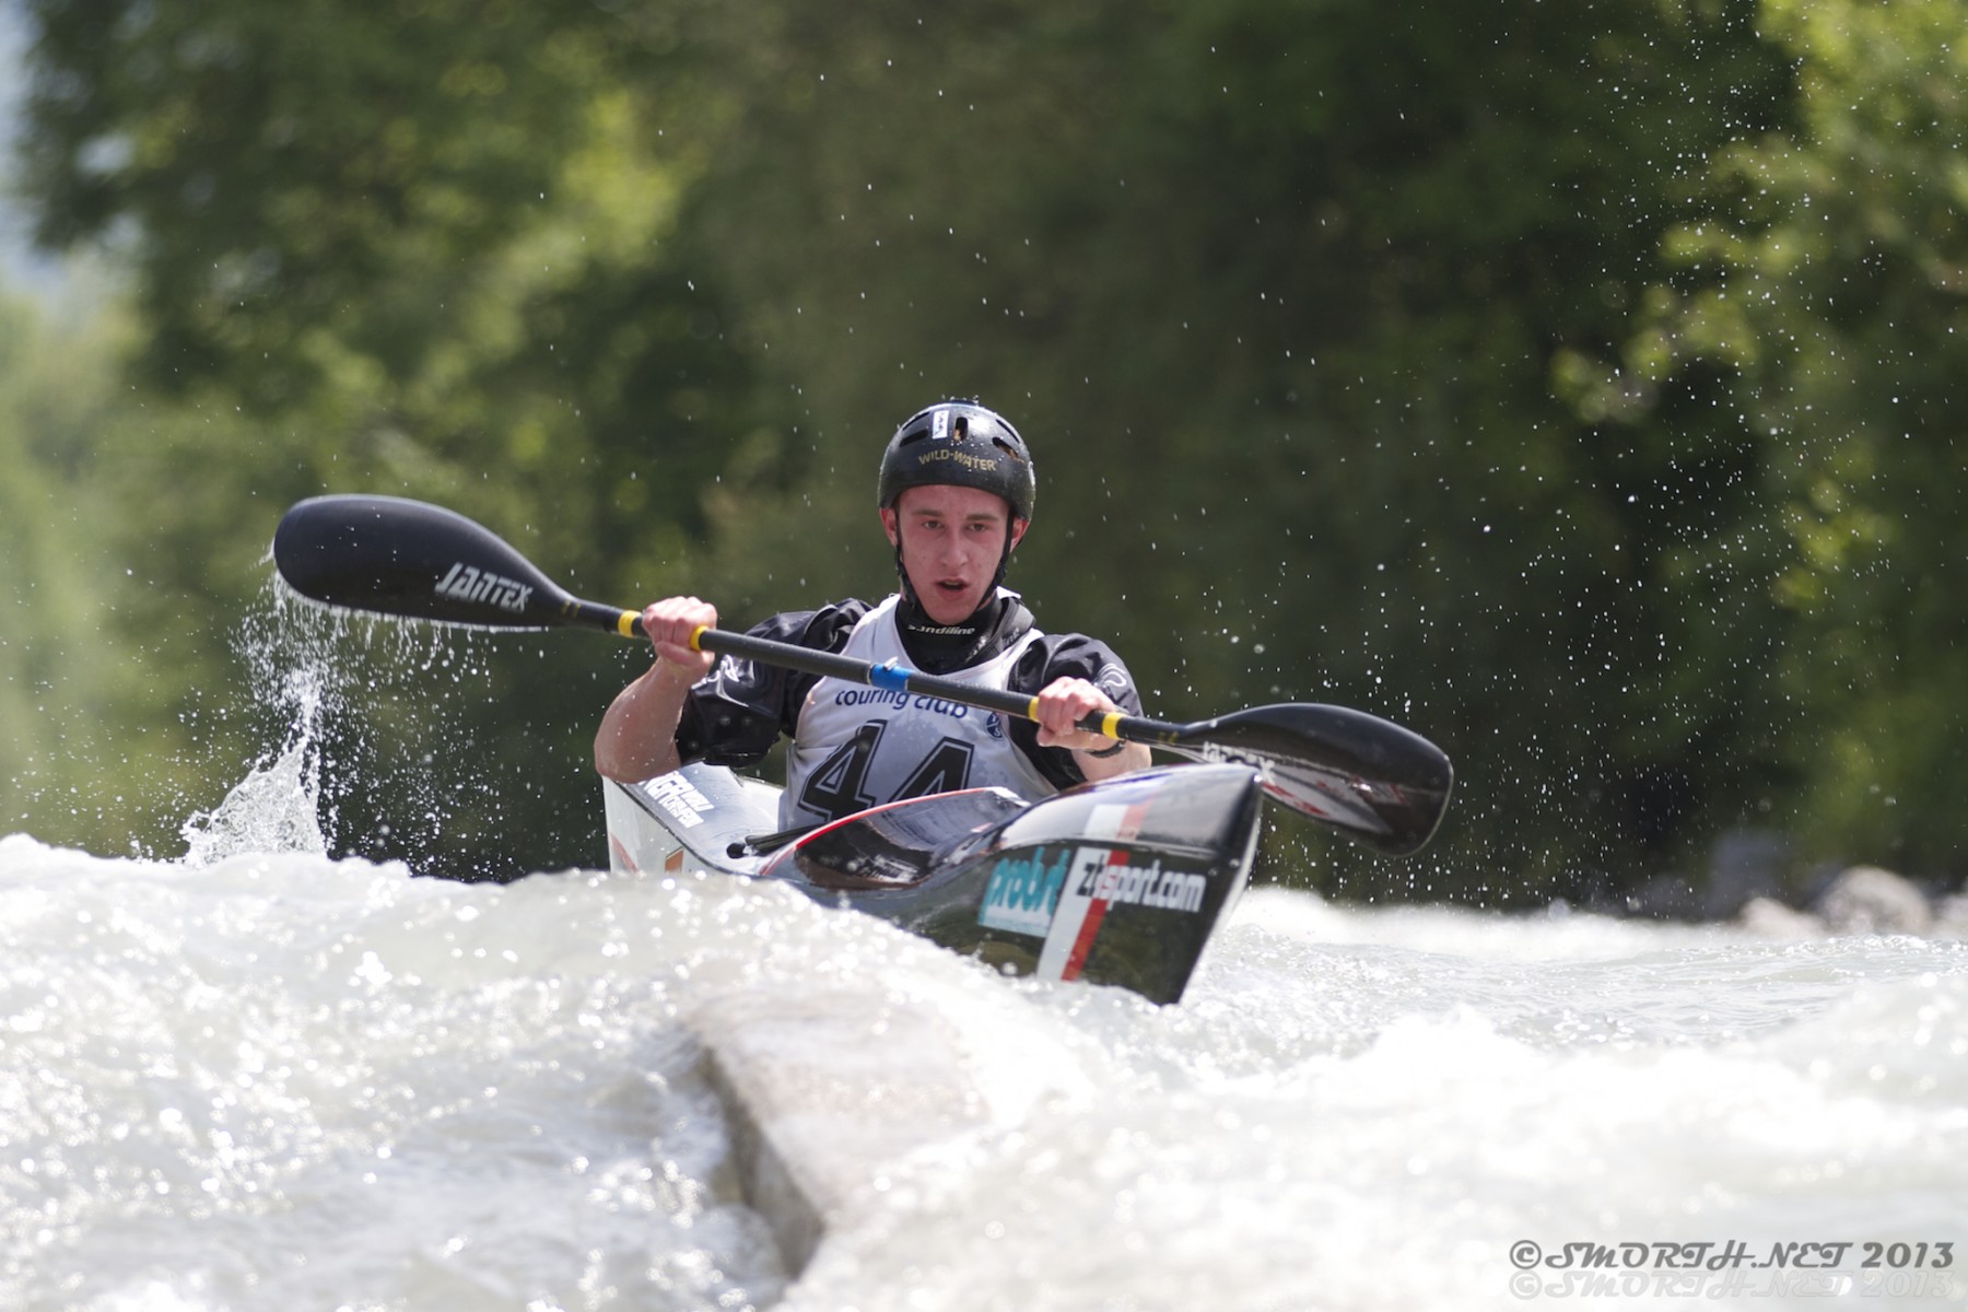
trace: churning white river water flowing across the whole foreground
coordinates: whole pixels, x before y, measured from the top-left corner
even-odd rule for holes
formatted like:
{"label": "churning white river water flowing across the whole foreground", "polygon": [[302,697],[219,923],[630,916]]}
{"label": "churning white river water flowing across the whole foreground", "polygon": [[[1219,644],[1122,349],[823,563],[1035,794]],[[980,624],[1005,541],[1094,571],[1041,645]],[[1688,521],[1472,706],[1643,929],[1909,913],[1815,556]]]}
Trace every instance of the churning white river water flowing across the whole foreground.
{"label": "churning white river water flowing across the whole foreground", "polygon": [[[1968,1302],[1960,942],[1260,889],[1153,1007],[773,887],[337,862],[317,803],[303,736],[181,860],[0,840],[0,1308]],[[740,989],[1029,1056],[789,1275],[679,1019]]]}

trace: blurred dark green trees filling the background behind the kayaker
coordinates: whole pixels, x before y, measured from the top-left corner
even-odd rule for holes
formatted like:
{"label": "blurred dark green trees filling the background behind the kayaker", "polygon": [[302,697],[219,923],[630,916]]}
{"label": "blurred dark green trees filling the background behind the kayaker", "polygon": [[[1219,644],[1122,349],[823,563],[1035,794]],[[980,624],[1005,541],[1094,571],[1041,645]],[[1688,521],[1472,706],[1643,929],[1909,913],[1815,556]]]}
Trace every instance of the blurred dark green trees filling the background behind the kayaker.
{"label": "blurred dark green trees filling the background behind the kayaker", "polygon": [[[880,443],[980,395],[1041,460],[1014,582],[1153,712],[1456,757],[1429,858],[1285,826],[1287,877],[1618,899],[1753,824],[1952,879],[1964,10],[28,0],[22,187],[126,262],[146,407],[41,439],[102,509],[35,559],[150,563],[118,714],[183,722],[301,496],[746,624],[886,590]],[[642,659],[472,645],[443,714],[356,679],[342,846],[598,862]]]}

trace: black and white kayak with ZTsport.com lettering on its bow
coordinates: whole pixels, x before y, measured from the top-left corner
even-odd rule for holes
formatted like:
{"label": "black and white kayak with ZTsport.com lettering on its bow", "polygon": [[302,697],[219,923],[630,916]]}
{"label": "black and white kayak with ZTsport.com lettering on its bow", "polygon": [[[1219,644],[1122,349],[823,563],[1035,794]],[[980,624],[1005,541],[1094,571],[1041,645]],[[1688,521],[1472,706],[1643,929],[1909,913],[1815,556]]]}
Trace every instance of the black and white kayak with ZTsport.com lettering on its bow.
{"label": "black and white kayak with ZTsport.com lettering on its bow", "polygon": [[1025,803],[913,797],[775,834],[777,789],[722,765],[606,783],[610,865],[779,879],[1019,976],[1183,997],[1250,879],[1260,773],[1167,765]]}

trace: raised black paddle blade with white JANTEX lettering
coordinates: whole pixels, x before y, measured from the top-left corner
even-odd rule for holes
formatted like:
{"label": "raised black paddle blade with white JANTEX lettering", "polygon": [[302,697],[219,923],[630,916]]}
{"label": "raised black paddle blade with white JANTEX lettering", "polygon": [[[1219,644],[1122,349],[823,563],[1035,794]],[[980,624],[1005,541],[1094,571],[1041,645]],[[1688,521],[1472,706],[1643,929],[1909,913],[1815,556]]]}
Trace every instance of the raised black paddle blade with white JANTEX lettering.
{"label": "raised black paddle blade with white JANTEX lettering", "polygon": [[577,602],[457,511],[394,496],[317,496],[274,533],[287,586],[329,606],[504,629],[553,627]]}

